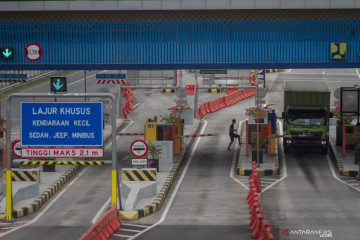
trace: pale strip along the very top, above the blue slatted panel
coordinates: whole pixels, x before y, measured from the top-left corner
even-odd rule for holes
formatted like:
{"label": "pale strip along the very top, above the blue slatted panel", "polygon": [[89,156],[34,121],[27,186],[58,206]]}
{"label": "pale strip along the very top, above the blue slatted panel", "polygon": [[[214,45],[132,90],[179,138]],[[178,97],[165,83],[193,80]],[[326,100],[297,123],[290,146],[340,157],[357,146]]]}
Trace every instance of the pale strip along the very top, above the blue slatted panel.
{"label": "pale strip along the very top, above the blue slatted panel", "polygon": [[138,0],[1,2],[1,11],[360,8],[360,0]]}

